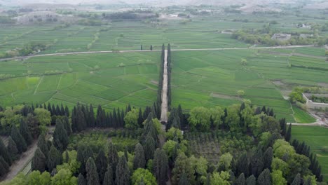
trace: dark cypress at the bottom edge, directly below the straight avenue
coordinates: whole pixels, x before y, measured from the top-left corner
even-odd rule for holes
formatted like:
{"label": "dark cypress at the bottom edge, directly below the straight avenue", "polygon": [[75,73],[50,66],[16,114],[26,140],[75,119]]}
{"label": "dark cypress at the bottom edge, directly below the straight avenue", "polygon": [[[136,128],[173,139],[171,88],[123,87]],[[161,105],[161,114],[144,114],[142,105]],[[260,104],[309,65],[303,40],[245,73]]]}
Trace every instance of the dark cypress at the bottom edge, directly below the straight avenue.
{"label": "dark cypress at the bottom edge, directly below the straight avenue", "polygon": [[156,149],[155,151],[153,170],[157,179],[157,184],[166,184],[168,180],[168,156],[163,149]]}

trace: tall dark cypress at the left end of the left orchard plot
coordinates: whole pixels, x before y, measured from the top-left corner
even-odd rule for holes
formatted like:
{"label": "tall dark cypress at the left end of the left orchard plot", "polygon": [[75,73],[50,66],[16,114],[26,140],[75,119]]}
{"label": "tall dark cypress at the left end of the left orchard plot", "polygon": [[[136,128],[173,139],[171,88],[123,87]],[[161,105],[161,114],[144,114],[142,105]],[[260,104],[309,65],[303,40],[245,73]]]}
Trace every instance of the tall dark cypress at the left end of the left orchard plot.
{"label": "tall dark cypress at the left end of the left orchard plot", "polygon": [[58,150],[64,151],[68,142],[67,130],[64,129],[62,121],[57,119],[55,132],[53,132],[53,144]]}

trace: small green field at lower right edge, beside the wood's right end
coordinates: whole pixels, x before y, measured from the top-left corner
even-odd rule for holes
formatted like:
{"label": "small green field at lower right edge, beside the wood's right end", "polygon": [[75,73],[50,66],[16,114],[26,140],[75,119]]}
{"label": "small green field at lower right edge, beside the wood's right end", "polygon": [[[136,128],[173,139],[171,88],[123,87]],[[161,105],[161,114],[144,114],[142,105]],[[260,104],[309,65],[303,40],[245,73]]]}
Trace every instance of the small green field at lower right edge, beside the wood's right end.
{"label": "small green field at lower right edge, beside the wood's right end", "polygon": [[306,142],[313,153],[317,155],[317,159],[322,168],[324,179],[328,177],[328,132],[327,128],[309,127],[309,126],[293,126],[292,138]]}

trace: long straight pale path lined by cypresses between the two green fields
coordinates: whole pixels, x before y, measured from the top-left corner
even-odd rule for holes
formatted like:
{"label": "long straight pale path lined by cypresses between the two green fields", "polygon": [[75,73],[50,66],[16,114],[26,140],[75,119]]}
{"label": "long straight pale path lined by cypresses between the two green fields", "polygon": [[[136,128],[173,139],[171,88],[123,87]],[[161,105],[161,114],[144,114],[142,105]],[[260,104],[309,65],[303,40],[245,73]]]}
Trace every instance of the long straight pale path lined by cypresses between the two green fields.
{"label": "long straight pale path lined by cypresses between the two green fields", "polygon": [[160,122],[168,122],[168,50],[165,50]]}

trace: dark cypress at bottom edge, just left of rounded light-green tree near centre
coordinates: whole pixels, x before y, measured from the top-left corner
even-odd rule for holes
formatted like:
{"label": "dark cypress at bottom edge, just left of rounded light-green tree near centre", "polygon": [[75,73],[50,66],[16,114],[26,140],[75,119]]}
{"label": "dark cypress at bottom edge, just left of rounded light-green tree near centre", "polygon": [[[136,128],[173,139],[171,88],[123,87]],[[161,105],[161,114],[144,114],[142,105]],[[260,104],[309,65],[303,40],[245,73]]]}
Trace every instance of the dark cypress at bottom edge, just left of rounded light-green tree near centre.
{"label": "dark cypress at bottom edge, just left of rounded light-green tree near centre", "polygon": [[125,156],[122,156],[116,166],[116,178],[117,185],[130,184],[130,170],[128,163],[126,162]]}

